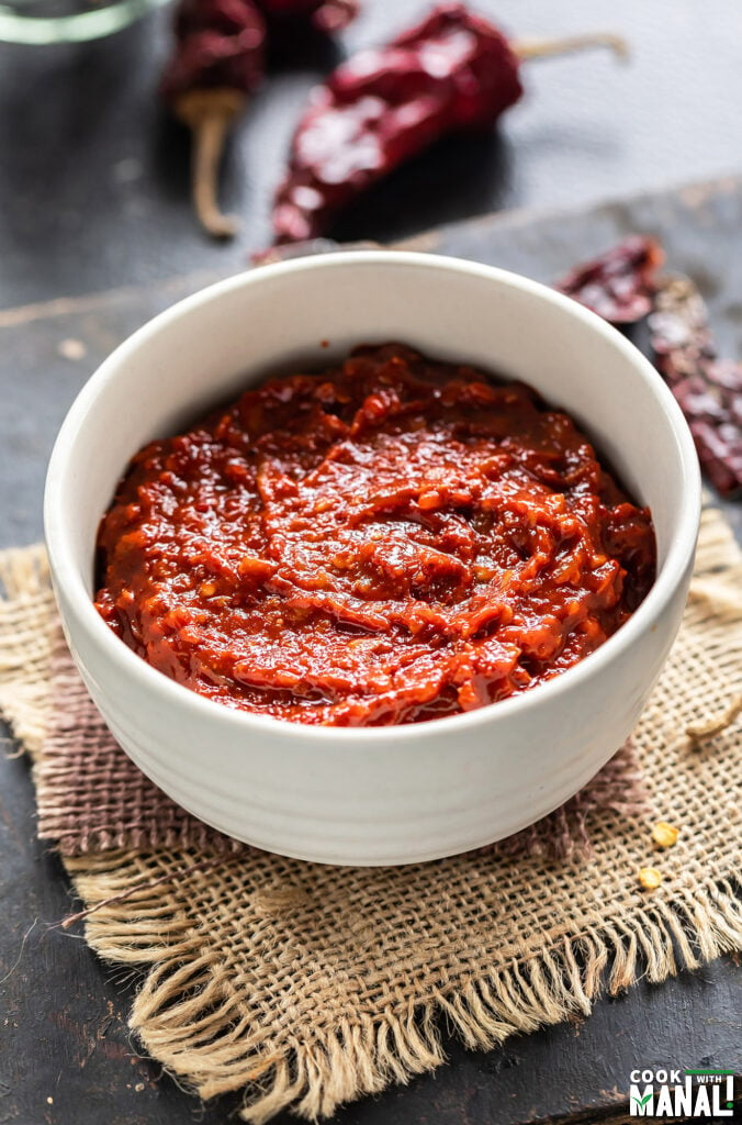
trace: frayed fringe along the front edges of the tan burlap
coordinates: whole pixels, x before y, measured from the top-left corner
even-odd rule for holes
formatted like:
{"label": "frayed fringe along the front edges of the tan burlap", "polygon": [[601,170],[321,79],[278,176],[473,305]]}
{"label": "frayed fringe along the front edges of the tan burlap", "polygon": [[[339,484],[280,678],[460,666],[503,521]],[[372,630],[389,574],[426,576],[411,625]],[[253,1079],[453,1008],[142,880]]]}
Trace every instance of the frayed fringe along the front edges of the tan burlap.
{"label": "frayed fringe along the front edges of the tan burlap", "polygon": [[[214,948],[205,947],[183,914],[163,907],[160,888],[142,879],[139,861],[134,853],[66,861],[78,893],[94,910],[88,944],[116,964],[146,962],[130,1027],[199,1097],[244,1090],[239,1116],[251,1125],[284,1109],[309,1120],[329,1117],[344,1102],[436,1069],[445,1062],[442,1024],[468,1048],[488,1050],[512,1035],[587,1017],[601,993],[615,996],[640,976],[661,983],[742,948],[739,886],[709,881],[672,902],[658,899],[634,917],[608,918],[537,954],[514,956],[424,1001],[297,1038],[290,1055],[271,1055],[251,1043],[238,1005],[221,989]],[[192,872],[173,857],[173,880]],[[100,897],[121,893],[126,902],[96,910]]]}

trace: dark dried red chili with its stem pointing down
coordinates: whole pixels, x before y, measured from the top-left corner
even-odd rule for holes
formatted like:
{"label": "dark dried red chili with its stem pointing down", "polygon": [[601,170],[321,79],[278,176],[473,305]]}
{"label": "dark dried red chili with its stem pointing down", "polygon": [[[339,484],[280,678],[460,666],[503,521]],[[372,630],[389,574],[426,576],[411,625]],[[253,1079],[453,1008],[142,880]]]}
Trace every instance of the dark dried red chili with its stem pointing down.
{"label": "dark dried red chili with its stem pointing down", "polygon": [[161,93],[193,132],[192,190],[201,225],[229,237],[237,224],[217,206],[218,164],[229,126],[263,76],[265,25],[252,0],[182,0],[175,38]]}

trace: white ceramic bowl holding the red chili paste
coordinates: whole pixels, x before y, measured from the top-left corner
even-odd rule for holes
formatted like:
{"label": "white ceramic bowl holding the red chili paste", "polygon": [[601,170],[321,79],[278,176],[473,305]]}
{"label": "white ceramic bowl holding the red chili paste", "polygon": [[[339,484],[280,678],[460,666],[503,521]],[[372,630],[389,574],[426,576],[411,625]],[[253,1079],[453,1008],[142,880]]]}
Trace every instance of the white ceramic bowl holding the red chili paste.
{"label": "white ceramic bowl holding the red chili paste", "polygon": [[[137,657],[91,602],[98,522],[129,457],[269,369],[402,341],[525,379],[572,414],[657,531],[657,582],[600,649],[533,692],[418,724],[304,727],[237,712]],[[322,342],[329,341],[329,348]],[[136,764],[208,824],[336,864],[399,864],[508,836],[627,737],[676,636],[698,528],[688,429],[651,364],[579,305],[501,270],[386,251],[308,258],[181,302],[92,376],[60,432],[46,541],[70,647]]]}

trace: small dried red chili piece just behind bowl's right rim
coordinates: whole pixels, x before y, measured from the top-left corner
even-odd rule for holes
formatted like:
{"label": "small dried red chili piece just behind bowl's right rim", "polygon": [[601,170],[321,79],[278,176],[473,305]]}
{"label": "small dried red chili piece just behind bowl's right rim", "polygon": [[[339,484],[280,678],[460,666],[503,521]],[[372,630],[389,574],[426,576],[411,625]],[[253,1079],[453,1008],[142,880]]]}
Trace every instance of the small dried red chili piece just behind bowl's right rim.
{"label": "small dried red chili piece just behind bowl's right rim", "polygon": [[576,266],[554,288],[612,324],[633,324],[652,309],[657,271],[663,261],[654,238],[632,234],[605,254]]}

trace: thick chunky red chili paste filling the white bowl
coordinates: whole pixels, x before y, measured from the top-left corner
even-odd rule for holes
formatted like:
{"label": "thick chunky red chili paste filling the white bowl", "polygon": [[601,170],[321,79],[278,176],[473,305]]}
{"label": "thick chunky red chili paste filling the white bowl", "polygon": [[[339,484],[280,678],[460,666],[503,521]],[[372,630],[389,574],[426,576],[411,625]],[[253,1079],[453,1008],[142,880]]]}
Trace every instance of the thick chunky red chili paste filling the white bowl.
{"label": "thick chunky red chili paste filling the white bowl", "polygon": [[543,683],[650,588],[650,513],[522,384],[358,348],[134,458],[96,605],[232,708],[378,726]]}

